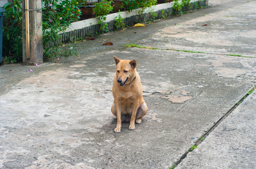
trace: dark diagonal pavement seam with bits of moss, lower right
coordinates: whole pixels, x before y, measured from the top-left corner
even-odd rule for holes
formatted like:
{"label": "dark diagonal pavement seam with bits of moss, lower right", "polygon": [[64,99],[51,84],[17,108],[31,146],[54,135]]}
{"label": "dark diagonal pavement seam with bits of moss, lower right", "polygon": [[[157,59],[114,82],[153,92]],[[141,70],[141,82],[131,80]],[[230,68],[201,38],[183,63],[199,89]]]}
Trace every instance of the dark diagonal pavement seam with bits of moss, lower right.
{"label": "dark diagonal pavement seam with bits of moss, lower right", "polygon": [[180,163],[183,161],[183,159],[186,158],[187,154],[189,154],[190,152],[193,152],[193,150],[194,150],[195,148],[197,148],[197,146],[198,146],[199,144],[201,144],[201,143],[203,142],[203,140],[204,140],[208,135],[210,135],[210,133],[211,133],[212,131],[214,131],[214,129],[215,129],[217,126],[219,126],[219,124],[220,124],[221,122],[223,122],[224,119],[225,119],[226,117],[228,117],[228,115],[231,114],[231,113],[233,112],[233,110],[236,109],[237,106],[240,105],[255,89],[256,89],[256,84],[254,85],[254,87],[252,87],[252,88],[246,93],[245,96],[243,96],[239,101],[237,101],[237,103],[234,104],[234,105],[232,106],[232,108],[229,109],[228,112],[225,113],[208,131],[206,131],[197,141],[195,141],[195,144],[194,144],[193,146],[191,146],[190,149],[187,150],[187,152],[185,152],[185,153],[180,157],[180,159],[178,159],[178,161],[172,165],[172,167],[170,167],[170,169],[173,169],[173,168],[177,167],[178,164],[180,164]]}

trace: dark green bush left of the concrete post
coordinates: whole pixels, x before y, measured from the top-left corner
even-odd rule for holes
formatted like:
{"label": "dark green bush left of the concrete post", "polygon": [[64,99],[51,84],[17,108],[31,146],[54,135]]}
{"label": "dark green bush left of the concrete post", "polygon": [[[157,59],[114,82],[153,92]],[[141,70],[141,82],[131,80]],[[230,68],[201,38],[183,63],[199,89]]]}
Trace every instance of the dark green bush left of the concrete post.
{"label": "dark green bush left of the concrete post", "polygon": [[3,21],[3,56],[5,63],[22,61],[22,0],[6,3]]}

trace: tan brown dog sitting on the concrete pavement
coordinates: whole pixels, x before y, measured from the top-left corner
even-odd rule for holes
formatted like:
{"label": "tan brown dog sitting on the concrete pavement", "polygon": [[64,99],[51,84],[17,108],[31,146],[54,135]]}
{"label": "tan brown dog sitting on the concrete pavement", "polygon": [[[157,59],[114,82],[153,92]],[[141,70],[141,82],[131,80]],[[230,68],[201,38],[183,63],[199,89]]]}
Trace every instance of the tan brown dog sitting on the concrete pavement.
{"label": "tan brown dog sitting on the concrete pavement", "polygon": [[117,117],[117,127],[114,132],[121,131],[121,123],[130,122],[130,130],[135,129],[136,123],[142,122],[148,107],[142,96],[142,83],[136,72],[136,60],[120,60],[114,56],[116,73],[114,74],[113,96],[114,103],[111,112]]}

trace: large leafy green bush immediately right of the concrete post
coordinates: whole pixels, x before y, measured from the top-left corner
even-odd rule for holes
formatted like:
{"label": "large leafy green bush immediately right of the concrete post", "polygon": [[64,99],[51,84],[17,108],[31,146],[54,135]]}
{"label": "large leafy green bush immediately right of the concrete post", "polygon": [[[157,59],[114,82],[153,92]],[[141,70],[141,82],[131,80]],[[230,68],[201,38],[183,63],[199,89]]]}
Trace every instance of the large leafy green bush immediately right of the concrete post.
{"label": "large leafy green bush immediately right of the concrete post", "polygon": [[67,47],[63,51],[58,45],[58,39],[61,38],[60,34],[64,33],[71,25],[71,22],[79,18],[79,16],[75,15],[80,14],[78,2],[75,0],[64,0],[59,3],[58,0],[43,0],[42,3],[42,45],[44,48],[44,59],[74,55],[76,51],[75,46]]}

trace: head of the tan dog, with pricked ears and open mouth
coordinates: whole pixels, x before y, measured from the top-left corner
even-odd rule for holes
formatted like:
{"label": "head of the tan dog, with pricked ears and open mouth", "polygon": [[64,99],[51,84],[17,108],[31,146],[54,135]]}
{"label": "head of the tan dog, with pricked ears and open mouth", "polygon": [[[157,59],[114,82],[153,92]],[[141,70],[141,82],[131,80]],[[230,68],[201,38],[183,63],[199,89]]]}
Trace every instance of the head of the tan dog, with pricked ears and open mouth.
{"label": "head of the tan dog, with pricked ears and open mouth", "polygon": [[136,73],[136,60],[120,60],[114,56],[114,62],[116,63],[115,75],[120,86],[125,86],[126,83],[132,82]]}

